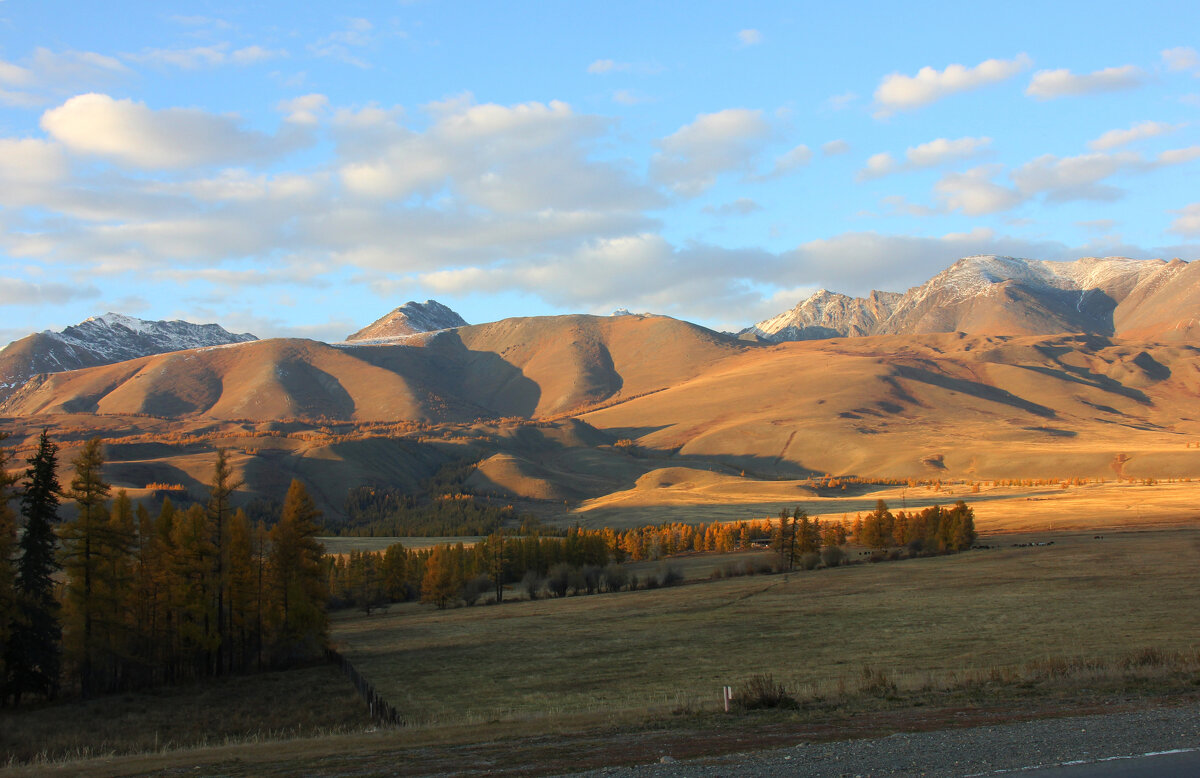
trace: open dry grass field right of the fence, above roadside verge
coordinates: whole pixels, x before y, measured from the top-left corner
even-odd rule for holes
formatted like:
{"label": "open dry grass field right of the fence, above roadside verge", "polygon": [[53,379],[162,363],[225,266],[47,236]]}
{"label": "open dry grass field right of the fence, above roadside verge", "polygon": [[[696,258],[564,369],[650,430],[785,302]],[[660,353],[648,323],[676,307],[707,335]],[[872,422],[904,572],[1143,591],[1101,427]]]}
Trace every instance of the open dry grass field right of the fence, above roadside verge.
{"label": "open dry grass field right of the fence, above roadside verge", "polygon": [[[1007,537],[1010,544],[1019,537]],[[1200,634],[1200,532],[1055,544],[635,593],[340,616],[334,639],[410,723],[593,722],[713,710],[770,672],[800,695],[900,688]]]}

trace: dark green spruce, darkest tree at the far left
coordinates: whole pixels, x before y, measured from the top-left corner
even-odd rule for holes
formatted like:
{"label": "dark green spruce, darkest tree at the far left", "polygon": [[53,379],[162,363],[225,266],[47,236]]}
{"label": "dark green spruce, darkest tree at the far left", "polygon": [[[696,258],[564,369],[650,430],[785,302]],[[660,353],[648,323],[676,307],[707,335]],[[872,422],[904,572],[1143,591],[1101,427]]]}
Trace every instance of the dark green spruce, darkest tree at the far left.
{"label": "dark green spruce, darkest tree at the far left", "polygon": [[59,447],[46,430],[37,451],[26,460],[22,483],[20,513],[25,534],[18,544],[16,594],[17,620],[5,652],[5,692],[19,704],[24,694],[54,698],[59,690],[62,626],[54,598],[54,574],[59,570],[54,525],[59,520]]}

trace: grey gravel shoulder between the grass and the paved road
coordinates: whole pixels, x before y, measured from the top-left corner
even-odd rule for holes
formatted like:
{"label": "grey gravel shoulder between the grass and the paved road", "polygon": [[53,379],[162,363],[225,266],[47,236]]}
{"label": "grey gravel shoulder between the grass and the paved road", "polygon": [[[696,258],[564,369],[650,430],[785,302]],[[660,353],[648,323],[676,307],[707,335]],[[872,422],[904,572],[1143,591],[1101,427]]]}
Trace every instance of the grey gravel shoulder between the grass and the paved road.
{"label": "grey gravel shoulder between the grass and the paved road", "polygon": [[960,777],[1200,748],[1200,707],[1153,708],[662,761],[576,773],[588,777],[694,776]]}

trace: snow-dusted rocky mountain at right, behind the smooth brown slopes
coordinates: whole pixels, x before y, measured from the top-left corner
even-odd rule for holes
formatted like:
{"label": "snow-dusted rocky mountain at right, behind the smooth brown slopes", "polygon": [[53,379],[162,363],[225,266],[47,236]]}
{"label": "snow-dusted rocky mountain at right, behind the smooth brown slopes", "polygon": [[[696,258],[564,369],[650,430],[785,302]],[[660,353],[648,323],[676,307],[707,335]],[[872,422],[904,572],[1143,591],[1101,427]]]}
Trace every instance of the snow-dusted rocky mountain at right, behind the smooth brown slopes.
{"label": "snow-dusted rocky mountain at right, behind the smooth brown slopes", "polygon": [[950,331],[1177,339],[1200,331],[1198,315],[1200,263],[989,255],[964,257],[902,295],[848,298],[822,289],[744,331],[772,341]]}

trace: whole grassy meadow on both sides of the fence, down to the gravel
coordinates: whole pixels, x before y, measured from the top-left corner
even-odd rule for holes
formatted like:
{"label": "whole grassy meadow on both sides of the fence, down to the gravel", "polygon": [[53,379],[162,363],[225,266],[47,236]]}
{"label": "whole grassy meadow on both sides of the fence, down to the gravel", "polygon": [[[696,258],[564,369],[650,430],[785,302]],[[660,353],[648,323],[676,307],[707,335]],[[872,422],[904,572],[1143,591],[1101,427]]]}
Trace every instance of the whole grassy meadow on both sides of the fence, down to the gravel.
{"label": "whole grassy meadow on both sides of the fence, down to the gravel", "polygon": [[[1200,694],[1200,529],[980,543],[991,547],[721,580],[708,576],[772,553],[689,555],[666,562],[686,579],[668,588],[342,611],[332,642],[400,708],[403,726],[370,724],[325,666],[6,712],[4,750],[14,761],[47,752],[17,774],[464,764],[529,774],[578,768],[584,752],[594,766],[653,761],[668,741],[671,753],[720,753],[746,738],[838,738]],[[772,676],[796,710],[720,712],[722,686],[740,693],[758,676]],[[54,735],[64,730],[72,735]]]}

